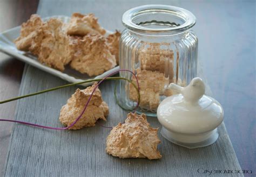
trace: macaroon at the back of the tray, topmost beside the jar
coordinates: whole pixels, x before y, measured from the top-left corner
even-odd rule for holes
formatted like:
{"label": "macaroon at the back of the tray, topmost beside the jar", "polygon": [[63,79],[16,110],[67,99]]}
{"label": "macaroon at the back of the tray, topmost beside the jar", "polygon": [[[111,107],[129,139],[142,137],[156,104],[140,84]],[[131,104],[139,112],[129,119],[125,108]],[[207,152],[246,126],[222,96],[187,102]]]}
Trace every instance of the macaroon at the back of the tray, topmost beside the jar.
{"label": "macaroon at the back of the tray, topmost beside the jar", "polygon": [[66,26],[66,32],[69,35],[85,36],[88,33],[102,34],[106,31],[99,26],[98,18],[93,13],[82,15],[81,13],[73,13],[70,22]]}

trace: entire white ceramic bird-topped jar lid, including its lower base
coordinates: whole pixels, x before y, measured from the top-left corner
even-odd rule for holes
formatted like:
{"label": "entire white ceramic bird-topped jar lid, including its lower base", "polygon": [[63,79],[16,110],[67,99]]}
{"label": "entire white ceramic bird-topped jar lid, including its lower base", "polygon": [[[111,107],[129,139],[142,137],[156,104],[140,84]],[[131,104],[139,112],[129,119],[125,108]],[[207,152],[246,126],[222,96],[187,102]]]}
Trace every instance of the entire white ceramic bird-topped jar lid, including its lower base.
{"label": "entire white ceramic bird-topped jar lid, including its lower base", "polygon": [[172,143],[188,148],[203,147],[218,139],[217,127],[224,111],[220,103],[205,95],[205,84],[195,77],[186,87],[171,83],[179,94],[166,97],[157,108],[161,134]]}

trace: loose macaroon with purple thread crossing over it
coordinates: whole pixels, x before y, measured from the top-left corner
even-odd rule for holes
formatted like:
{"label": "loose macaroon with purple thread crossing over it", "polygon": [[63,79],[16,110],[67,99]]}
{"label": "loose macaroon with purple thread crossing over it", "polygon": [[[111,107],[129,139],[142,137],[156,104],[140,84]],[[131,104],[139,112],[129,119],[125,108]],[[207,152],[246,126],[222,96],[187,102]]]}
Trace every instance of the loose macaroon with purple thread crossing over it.
{"label": "loose macaroon with purple thread crossing over it", "polygon": [[[75,94],[69,98],[68,102],[60,110],[59,121],[69,126],[71,125],[77,117],[82,113],[86,102],[88,101],[92,90],[96,87],[96,83],[91,87],[87,87],[84,90],[77,89]],[[97,88],[93,93],[91,101],[89,102],[83,116],[79,121],[73,125],[71,130],[82,129],[86,126],[95,126],[98,119],[103,119],[106,121],[106,116],[109,114],[109,107],[102,100],[102,94]]]}

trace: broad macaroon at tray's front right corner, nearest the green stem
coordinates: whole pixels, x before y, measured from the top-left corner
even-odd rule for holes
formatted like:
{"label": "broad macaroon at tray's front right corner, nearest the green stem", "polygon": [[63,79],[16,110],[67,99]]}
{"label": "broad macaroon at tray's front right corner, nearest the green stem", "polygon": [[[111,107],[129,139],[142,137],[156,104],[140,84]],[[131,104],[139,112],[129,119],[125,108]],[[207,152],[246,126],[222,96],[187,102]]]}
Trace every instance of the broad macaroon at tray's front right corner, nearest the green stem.
{"label": "broad macaroon at tray's front right corner, nearest the green stem", "polygon": [[77,38],[76,49],[70,66],[80,73],[95,76],[104,73],[117,65],[116,58],[111,54],[106,39],[98,34],[87,34]]}

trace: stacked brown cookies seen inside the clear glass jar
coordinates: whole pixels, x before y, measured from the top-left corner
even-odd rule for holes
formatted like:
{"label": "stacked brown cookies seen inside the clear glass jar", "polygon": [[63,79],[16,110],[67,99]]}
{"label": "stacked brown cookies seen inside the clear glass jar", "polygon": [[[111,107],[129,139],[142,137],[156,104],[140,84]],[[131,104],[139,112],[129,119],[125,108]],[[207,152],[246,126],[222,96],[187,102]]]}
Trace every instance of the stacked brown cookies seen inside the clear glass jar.
{"label": "stacked brown cookies seen inside the clear glass jar", "polygon": [[[140,108],[144,111],[156,112],[160,101],[165,96],[173,95],[168,88],[170,83],[182,83],[177,74],[174,75],[178,59],[174,60],[174,52],[169,43],[144,43],[138,50],[138,68],[133,68],[140,86]],[[176,53],[176,56],[178,52]],[[136,61],[133,61],[136,62]],[[133,65],[136,66],[136,65]],[[135,83],[135,77],[132,76]],[[129,98],[138,101],[137,90],[129,84]]]}

